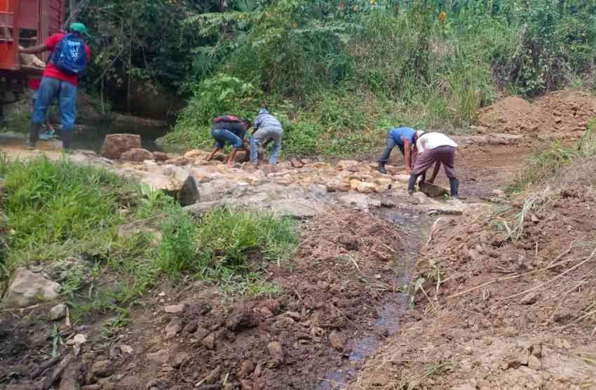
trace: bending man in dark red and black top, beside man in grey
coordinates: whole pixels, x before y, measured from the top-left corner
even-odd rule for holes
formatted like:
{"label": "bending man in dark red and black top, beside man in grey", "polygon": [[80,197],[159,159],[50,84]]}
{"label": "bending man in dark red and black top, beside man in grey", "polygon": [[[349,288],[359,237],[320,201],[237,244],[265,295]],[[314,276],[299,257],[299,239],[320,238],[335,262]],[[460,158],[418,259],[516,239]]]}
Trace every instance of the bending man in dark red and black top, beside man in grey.
{"label": "bending man in dark red and black top, beside man in grey", "polygon": [[218,116],[213,119],[211,136],[215,140],[215,146],[207,161],[211,161],[219,150],[224,149],[227,142],[232,145],[232,152],[228,158],[228,166],[233,166],[238,149],[246,149],[244,143],[245,135],[246,130],[250,126],[250,121],[238,119],[237,116],[233,115]]}

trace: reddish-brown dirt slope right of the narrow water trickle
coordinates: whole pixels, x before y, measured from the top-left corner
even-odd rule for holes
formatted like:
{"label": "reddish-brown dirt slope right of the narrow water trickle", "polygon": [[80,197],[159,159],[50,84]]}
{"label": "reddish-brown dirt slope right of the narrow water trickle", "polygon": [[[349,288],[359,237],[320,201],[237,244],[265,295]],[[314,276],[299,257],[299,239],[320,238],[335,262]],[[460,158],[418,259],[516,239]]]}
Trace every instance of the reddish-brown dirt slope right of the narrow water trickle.
{"label": "reddish-brown dirt slope right of the narrow water trickle", "polygon": [[596,192],[583,184],[440,218],[416,264],[416,309],[358,386],[596,386]]}

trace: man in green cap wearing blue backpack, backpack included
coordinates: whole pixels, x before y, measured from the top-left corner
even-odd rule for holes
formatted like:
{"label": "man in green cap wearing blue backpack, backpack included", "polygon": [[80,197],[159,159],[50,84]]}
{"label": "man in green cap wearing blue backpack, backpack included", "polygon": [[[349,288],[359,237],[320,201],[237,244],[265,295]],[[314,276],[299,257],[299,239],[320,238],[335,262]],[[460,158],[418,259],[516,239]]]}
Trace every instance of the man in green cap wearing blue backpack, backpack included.
{"label": "man in green cap wearing blue backpack, backpack included", "polygon": [[29,147],[35,147],[39,139],[39,130],[51,102],[57,97],[62,121],[62,147],[70,149],[74,120],[76,118],[76,93],[79,76],[83,74],[91,57],[89,46],[84,37],[88,36],[83,23],[72,23],[70,34],[59,32],[50,36],[43,45],[20,49],[20,53],[38,54],[51,51],[50,60],[43,71],[39,86],[39,97],[33,109],[33,120],[29,133]]}

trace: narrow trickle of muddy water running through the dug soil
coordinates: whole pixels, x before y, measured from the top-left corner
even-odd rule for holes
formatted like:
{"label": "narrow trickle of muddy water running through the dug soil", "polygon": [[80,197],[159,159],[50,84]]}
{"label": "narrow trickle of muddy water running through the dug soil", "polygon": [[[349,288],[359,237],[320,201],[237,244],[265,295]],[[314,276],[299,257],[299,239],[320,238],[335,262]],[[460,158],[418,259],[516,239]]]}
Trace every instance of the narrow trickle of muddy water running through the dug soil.
{"label": "narrow trickle of muddy water running through the dug soil", "polygon": [[[401,256],[395,259],[393,285],[405,286],[412,277],[409,270],[412,269],[412,262],[415,261],[416,253],[424,237],[428,235],[432,221],[428,217],[393,208],[381,208],[374,214],[390,220],[395,224],[398,231],[402,232],[404,249]],[[338,370],[328,372],[316,389],[340,389],[341,386],[349,382],[356,374],[355,367],[372,356],[380,347],[384,338],[398,332],[399,318],[407,310],[408,304],[409,295],[407,292],[402,291],[397,292],[392,300],[385,302],[379,308],[379,318],[372,323],[372,335],[361,338],[356,335],[355,339],[348,344],[351,354],[347,356],[344,366]]]}

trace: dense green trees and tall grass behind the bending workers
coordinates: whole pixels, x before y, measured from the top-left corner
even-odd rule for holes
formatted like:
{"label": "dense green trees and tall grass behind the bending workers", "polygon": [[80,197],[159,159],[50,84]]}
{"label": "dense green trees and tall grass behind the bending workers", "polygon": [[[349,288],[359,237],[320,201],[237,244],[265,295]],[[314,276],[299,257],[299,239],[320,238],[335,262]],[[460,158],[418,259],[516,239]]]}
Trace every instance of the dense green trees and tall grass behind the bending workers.
{"label": "dense green trees and tall grass behind the bending workers", "polygon": [[186,147],[210,144],[212,116],[252,117],[266,105],[285,123],[285,152],[351,154],[399,123],[464,128],[503,93],[595,86],[590,1],[90,4],[83,19],[112,42],[95,73],[154,79],[189,97],[166,139]]}

